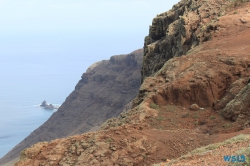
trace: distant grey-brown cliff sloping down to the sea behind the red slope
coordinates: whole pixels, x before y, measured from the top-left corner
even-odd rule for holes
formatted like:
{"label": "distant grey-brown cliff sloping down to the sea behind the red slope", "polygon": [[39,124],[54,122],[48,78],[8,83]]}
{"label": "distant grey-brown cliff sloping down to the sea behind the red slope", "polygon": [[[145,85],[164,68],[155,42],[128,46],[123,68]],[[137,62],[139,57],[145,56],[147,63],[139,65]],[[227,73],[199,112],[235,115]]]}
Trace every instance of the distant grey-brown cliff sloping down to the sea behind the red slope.
{"label": "distant grey-brown cliff sloping down to the sea behind the red slope", "polygon": [[142,52],[112,56],[90,66],[58,111],[0,163],[18,157],[21,150],[37,142],[97,130],[104,121],[119,115],[138,93]]}

